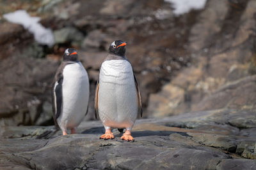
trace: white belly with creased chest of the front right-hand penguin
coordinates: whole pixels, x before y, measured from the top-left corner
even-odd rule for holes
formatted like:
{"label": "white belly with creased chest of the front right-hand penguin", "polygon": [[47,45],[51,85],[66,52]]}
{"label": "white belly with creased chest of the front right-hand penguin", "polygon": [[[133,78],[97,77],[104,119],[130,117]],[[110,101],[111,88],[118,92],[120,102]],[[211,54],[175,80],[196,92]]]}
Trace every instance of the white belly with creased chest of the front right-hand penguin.
{"label": "white belly with creased chest of the front right-hand penguin", "polygon": [[132,66],[127,60],[106,60],[99,77],[98,110],[108,127],[131,128],[138,114]]}

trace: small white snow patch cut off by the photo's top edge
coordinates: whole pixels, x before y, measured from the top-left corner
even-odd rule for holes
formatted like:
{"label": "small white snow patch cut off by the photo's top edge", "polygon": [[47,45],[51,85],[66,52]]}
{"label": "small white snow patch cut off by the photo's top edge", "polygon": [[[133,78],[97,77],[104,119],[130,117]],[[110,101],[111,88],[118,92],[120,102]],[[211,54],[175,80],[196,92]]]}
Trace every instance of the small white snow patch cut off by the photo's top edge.
{"label": "small white snow patch cut off by the photo's top edge", "polygon": [[172,3],[175,10],[173,13],[175,15],[182,15],[189,12],[190,10],[200,10],[204,8],[207,0],[164,0],[168,3]]}

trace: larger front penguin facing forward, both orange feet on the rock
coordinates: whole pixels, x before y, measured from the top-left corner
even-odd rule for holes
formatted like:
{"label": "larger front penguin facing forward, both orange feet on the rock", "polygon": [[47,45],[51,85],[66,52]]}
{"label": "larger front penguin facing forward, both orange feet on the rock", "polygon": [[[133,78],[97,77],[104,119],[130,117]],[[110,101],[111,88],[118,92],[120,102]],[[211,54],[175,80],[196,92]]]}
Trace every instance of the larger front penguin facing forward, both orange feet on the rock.
{"label": "larger front penguin facing forward, both orange feet on the rock", "polygon": [[124,41],[114,41],[100,67],[95,90],[95,117],[99,114],[105,127],[100,139],[113,139],[112,128],[122,132],[125,141],[134,141],[131,130],[138,113],[142,117],[141,95],[129,60],[125,57]]}

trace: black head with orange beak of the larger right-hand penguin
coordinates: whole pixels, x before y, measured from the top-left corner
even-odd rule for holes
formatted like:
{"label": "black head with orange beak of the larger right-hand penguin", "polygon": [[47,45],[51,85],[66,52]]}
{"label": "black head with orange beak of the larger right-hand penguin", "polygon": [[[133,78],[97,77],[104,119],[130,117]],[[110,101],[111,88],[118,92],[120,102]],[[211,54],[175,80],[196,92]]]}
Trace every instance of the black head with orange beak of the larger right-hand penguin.
{"label": "black head with orange beak of the larger right-hand penguin", "polygon": [[110,46],[109,46],[109,53],[113,53],[115,55],[124,57],[125,56],[125,45],[126,43],[121,40],[116,40],[114,41]]}

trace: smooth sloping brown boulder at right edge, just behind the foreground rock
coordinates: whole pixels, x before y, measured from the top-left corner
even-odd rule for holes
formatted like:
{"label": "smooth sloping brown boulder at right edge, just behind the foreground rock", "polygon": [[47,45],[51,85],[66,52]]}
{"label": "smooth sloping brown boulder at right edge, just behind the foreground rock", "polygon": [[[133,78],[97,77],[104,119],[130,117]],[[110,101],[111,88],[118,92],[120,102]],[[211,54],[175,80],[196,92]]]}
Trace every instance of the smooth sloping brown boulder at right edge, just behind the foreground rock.
{"label": "smooth sloping brown boulder at right edge, just behind the foreground rock", "polygon": [[211,96],[205,97],[200,103],[195,104],[192,110],[211,110],[219,108],[244,108],[255,109],[256,76],[227,83],[217,89]]}

